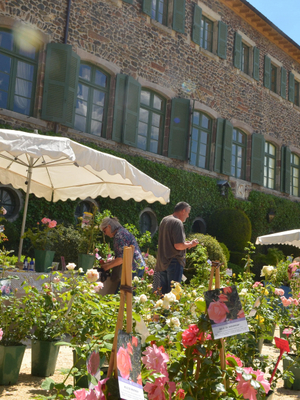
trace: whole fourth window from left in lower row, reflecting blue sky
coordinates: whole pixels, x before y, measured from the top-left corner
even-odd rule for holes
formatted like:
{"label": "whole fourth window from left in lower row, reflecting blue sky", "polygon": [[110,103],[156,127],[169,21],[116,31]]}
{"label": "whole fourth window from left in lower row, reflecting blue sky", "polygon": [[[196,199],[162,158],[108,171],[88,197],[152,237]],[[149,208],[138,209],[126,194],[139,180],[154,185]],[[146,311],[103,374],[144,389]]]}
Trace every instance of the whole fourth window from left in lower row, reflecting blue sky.
{"label": "whole fourth window from left in lower row, reflecting blue sky", "polygon": [[199,111],[193,112],[190,164],[208,169],[211,119]]}

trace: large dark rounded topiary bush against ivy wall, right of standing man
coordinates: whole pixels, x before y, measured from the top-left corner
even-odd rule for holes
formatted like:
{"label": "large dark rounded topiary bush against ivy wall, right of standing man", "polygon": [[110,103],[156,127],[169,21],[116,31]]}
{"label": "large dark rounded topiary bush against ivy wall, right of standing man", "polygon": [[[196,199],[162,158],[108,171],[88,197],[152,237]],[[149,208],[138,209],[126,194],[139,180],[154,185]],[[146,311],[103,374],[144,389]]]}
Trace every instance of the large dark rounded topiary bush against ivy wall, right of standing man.
{"label": "large dark rounded topiary bush against ivy wall, right of standing man", "polygon": [[251,222],[242,210],[224,208],[215,211],[208,220],[207,232],[225,243],[230,252],[243,252],[251,240]]}

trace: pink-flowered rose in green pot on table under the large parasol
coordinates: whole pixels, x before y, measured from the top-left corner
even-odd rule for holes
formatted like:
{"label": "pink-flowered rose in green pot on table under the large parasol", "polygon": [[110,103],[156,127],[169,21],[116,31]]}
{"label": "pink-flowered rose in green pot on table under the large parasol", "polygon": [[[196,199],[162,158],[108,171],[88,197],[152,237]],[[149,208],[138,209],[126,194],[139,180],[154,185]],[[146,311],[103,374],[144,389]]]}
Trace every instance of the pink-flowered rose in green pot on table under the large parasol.
{"label": "pink-flowered rose in green pot on table under the large parasol", "polygon": [[23,238],[28,238],[34,248],[35,270],[44,272],[53,262],[55,251],[54,245],[57,238],[57,222],[49,218],[43,218],[37,223],[37,227],[28,229]]}

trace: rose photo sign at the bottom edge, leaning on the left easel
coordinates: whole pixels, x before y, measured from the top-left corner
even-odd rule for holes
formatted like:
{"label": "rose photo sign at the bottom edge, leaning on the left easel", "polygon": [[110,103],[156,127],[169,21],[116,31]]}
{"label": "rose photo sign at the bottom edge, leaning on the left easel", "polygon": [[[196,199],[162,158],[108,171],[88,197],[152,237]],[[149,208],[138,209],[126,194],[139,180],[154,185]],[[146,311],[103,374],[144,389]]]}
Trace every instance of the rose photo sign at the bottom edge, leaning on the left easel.
{"label": "rose photo sign at the bottom edge, leaning on the left easel", "polygon": [[117,369],[120,398],[144,400],[141,377],[141,342],[129,333],[119,330]]}

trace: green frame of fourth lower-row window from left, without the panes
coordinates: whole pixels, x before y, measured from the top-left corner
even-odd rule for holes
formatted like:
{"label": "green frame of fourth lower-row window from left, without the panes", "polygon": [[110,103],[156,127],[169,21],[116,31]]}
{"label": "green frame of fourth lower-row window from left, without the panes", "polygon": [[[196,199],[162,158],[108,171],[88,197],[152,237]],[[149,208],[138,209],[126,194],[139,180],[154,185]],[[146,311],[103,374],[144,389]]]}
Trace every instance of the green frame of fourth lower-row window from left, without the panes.
{"label": "green frame of fourth lower-row window from left, without the panes", "polygon": [[[194,115],[195,112],[199,113],[199,125],[195,125],[194,124]],[[202,117],[205,116],[209,121],[210,121],[210,128],[203,128],[201,126],[201,121],[202,121]],[[192,119],[191,119],[191,137],[190,137],[190,148],[189,148],[189,158],[188,158],[188,162],[189,165],[197,167],[197,168],[202,168],[202,169],[206,169],[209,170],[209,165],[210,165],[210,155],[211,155],[211,143],[212,143],[212,128],[213,128],[213,118],[211,116],[209,116],[207,113],[201,111],[201,110],[193,110],[192,113]],[[196,154],[196,162],[195,164],[191,163],[191,154],[192,154],[192,145],[193,145],[193,129],[197,129],[198,130],[198,141],[197,141],[197,153]],[[199,140],[199,135],[201,133],[201,130],[205,131],[207,133],[207,143],[206,143],[206,154],[205,154],[205,167],[199,166],[199,156],[200,156],[200,145],[201,145],[201,141]]]}

